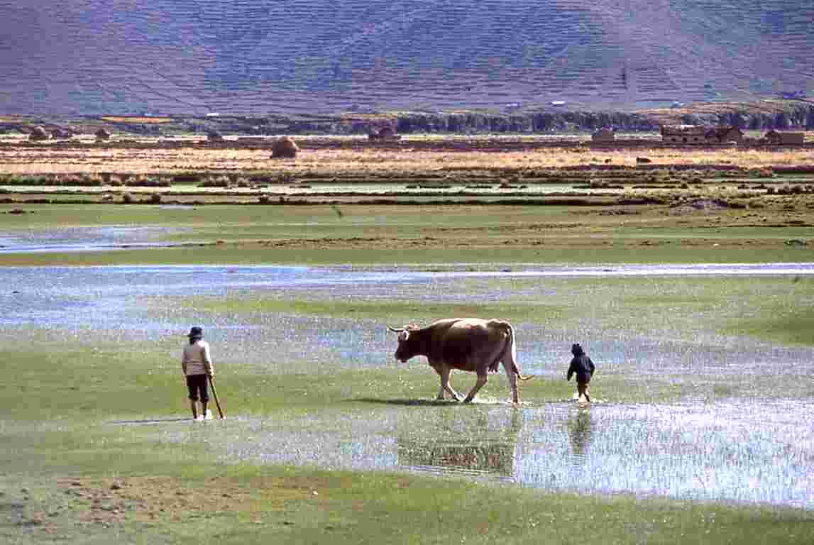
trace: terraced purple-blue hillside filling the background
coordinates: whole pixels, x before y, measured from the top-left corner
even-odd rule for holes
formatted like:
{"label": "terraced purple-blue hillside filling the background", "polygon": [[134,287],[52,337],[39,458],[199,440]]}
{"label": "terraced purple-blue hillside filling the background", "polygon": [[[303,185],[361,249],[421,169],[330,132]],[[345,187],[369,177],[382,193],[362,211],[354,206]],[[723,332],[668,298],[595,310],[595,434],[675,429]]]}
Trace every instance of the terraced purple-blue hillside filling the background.
{"label": "terraced purple-blue hillside filling the background", "polygon": [[812,21],[809,0],[0,0],[0,113],[621,111],[811,96]]}

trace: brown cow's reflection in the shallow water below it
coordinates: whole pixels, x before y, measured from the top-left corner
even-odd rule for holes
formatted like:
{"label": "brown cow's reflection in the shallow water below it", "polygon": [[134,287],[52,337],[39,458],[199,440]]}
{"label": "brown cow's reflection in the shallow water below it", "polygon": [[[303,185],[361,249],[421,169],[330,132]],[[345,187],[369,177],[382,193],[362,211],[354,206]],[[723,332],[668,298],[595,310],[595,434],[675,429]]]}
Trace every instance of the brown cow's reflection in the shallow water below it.
{"label": "brown cow's reflection in the shallow water below it", "polygon": [[[436,412],[429,429],[400,429],[399,464],[449,473],[514,476],[522,413],[513,408]],[[434,427],[434,429],[433,429]]]}

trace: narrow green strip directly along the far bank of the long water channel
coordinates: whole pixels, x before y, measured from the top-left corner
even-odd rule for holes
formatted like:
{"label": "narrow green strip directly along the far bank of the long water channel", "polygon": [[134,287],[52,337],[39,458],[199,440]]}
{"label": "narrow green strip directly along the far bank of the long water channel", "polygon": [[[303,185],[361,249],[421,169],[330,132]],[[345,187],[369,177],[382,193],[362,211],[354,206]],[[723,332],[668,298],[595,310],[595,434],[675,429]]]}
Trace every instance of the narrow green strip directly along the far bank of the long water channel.
{"label": "narrow green strip directly along the far bank of the long water channel", "polygon": [[588,247],[456,246],[446,247],[269,247],[241,244],[190,245],[117,251],[30,252],[0,254],[0,266],[54,267],[84,265],[234,264],[234,265],[425,265],[466,263],[580,265],[649,263],[781,263],[814,261],[814,253],[777,242],[771,247],[718,248],[667,244],[631,247],[625,244]]}

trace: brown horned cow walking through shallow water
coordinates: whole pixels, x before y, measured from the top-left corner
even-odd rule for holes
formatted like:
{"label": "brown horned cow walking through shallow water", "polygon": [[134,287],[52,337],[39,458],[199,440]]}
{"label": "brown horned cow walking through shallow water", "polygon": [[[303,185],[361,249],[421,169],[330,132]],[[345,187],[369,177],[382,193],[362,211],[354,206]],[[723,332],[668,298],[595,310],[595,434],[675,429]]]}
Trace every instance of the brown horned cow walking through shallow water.
{"label": "brown horned cow walking through shallow water", "polygon": [[517,379],[523,377],[517,364],[514,348],[514,328],[505,320],[480,320],[479,318],[448,318],[437,320],[427,327],[408,325],[404,328],[388,329],[399,334],[399,347],[396,360],[404,363],[416,355],[427,357],[431,368],[441,377],[438,399],[444,399],[449,392],[456,401],[461,400],[449,384],[453,369],[477,373],[478,380],[463,400],[469,403],[486,384],[487,373],[497,372],[498,364],[503,364],[511,385],[512,401],[520,402]]}

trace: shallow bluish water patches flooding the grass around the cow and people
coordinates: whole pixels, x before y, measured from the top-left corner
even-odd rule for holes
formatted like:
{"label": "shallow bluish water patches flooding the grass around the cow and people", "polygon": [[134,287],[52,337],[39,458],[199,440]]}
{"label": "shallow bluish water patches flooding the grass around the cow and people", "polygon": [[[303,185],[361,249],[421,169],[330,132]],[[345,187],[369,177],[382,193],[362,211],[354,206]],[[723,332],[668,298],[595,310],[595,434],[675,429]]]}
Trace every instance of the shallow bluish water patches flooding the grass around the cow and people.
{"label": "shallow bluish water patches flooding the grass around the cow and people", "polygon": [[[83,338],[126,331],[132,342],[182,338],[192,322],[207,327],[225,368],[262,368],[270,376],[326,373],[341,365],[392,367],[394,339],[383,324],[353,317],[295,314],[190,316],[167,305],[194,291],[200,296],[282,299],[501,300],[523,281],[523,296],[543,298],[562,278],[621,277],[778,278],[814,275],[812,264],[500,267],[456,265],[415,268],[304,267],[89,267],[0,268],[0,329],[23,342],[32,327]],[[43,281],[47,279],[47,282]],[[670,312],[665,309],[663,312]],[[573,330],[515,324],[524,373],[562,380]],[[478,403],[436,403],[436,379],[409,399],[349,392],[347,407],[309,416],[244,416],[235,410],[209,426],[210,448],[227,462],[317,464],[331,469],[399,469],[498,479],[551,490],[629,492],[682,499],[768,503],[814,509],[814,401],[762,391],[761,379],[804,383],[814,375],[814,350],[778,347],[712,331],[664,334],[663,329],[619,325],[591,332],[590,353],[605,373],[631,381],[669,366],[699,389],[709,377],[753,381],[748,398],[702,395],[663,404],[616,404],[598,399],[580,408],[570,399],[523,403],[490,382]],[[274,360],[263,356],[274,347]],[[238,356],[239,355],[239,356]],[[330,366],[326,366],[330,363]],[[419,365],[418,362],[413,362]],[[463,380],[463,379],[462,379]],[[781,386],[778,386],[781,388]],[[810,389],[809,389],[810,390]],[[168,415],[148,425],[161,442],[199,437],[199,427]]]}

